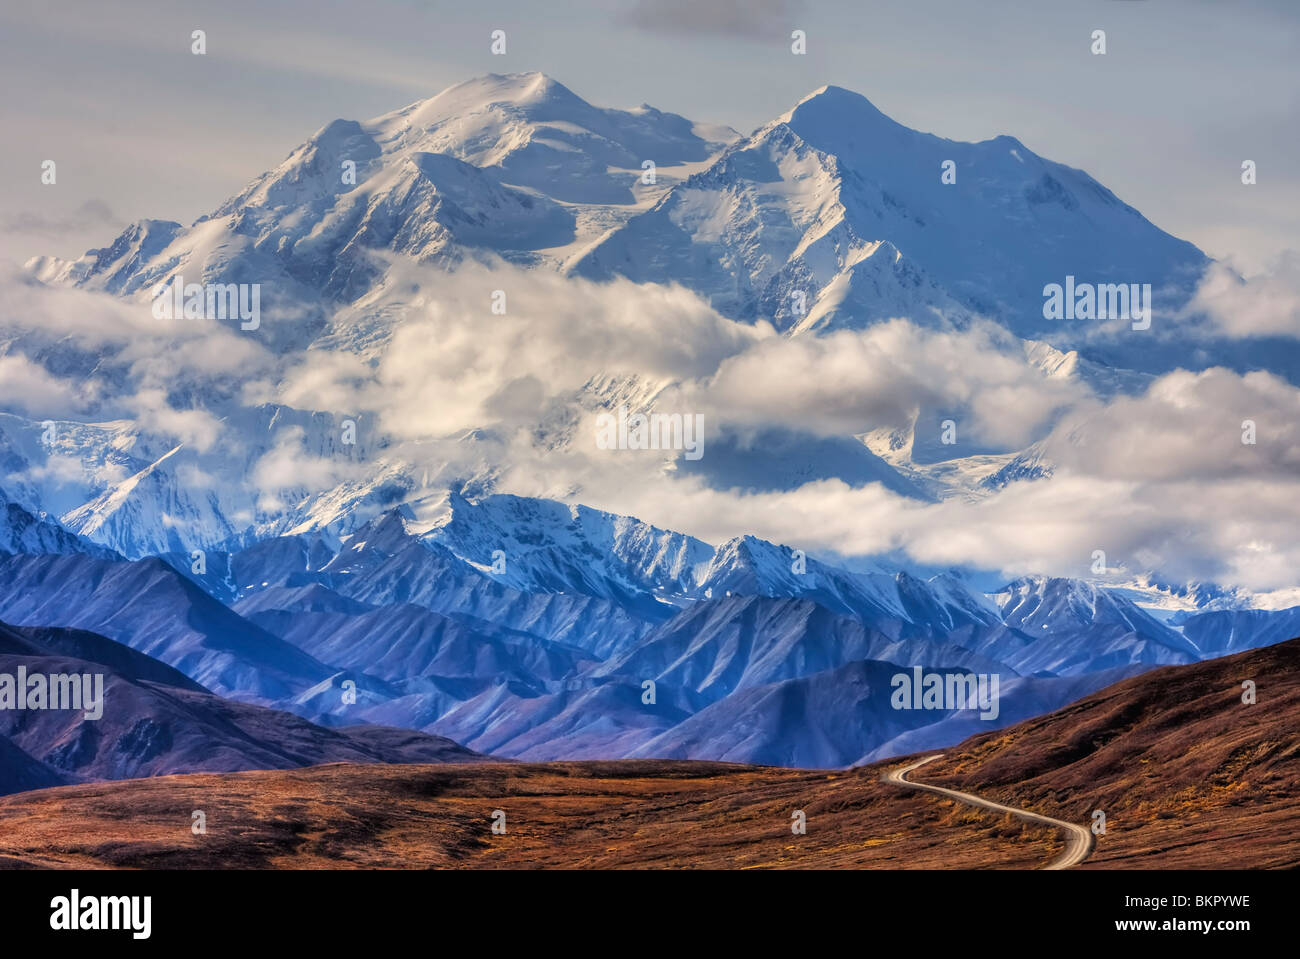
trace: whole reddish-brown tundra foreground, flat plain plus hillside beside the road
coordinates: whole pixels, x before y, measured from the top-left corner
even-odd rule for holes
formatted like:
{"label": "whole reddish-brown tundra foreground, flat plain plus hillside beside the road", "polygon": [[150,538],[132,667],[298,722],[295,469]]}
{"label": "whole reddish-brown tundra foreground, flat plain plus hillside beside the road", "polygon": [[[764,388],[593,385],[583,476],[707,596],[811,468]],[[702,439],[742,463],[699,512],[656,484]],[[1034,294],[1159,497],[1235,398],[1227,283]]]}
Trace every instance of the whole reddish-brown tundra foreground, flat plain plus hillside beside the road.
{"label": "whole reddish-brown tundra foreground, flat plain plus hillside beside the road", "polygon": [[[1102,808],[1083,868],[1295,867],[1297,680],[1297,639],[1157,669],[967,739],[913,778],[1070,823]],[[897,765],[333,764],[58,787],[0,799],[0,864],[1036,868],[1061,851],[1053,829],[881,782]]]}

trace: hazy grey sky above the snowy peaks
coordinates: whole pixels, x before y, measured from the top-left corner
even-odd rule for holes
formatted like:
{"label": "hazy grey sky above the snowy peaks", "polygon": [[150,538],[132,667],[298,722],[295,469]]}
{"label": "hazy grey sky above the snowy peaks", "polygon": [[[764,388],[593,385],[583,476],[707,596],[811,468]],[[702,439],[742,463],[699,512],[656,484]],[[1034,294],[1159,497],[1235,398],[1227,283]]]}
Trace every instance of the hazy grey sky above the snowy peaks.
{"label": "hazy grey sky above the snowy peaks", "polygon": [[542,70],[742,133],[836,83],[944,136],[1018,136],[1260,268],[1300,248],[1297,53],[1300,0],[5,0],[0,259],[187,224],[335,117]]}

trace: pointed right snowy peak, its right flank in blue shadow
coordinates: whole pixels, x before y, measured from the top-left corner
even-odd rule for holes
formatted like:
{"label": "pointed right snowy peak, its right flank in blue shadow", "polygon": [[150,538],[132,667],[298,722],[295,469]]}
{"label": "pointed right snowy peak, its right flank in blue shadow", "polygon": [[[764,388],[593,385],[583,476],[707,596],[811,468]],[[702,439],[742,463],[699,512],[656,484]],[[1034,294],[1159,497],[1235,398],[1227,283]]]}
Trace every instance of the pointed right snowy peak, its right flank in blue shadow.
{"label": "pointed right snowy peak, its right flank in blue shadow", "polygon": [[[953,183],[942,182],[946,162]],[[1204,266],[1190,243],[1011,136],[945,140],[828,86],[576,269],[685,283],[728,314],[781,329],[980,313],[1022,337],[1058,337],[1061,325],[1043,317],[1046,283],[1149,282],[1178,303]]]}

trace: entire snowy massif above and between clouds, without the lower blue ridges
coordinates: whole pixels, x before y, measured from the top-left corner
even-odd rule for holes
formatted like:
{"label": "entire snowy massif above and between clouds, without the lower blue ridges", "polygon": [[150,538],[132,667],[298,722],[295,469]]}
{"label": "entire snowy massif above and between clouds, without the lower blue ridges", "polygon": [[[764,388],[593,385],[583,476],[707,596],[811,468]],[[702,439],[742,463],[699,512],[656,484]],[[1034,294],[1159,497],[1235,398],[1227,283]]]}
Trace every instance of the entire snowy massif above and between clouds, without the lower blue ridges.
{"label": "entire snowy massif above and between clouds, without the lower blue ridges", "polygon": [[[949,160],[956,183],[941,178]],[[1143,374],[1124,369],[1143,365],[1140,351],[1128,337],[1114,340],[1123,364],[1086,357],[1110,340],[1089,335],[1074,348],[1078,329],[1043,320],[1044,285],[1066,274],[1149,282],[1176,304],[1206,264],[1087,174],[1018,140],[957,143],[909,130],[837,87],[741,138],[649,107],[597,108],[542,74],[489,75],[369,121],[328,123],[190,226],[142,221],[75,262],[30,262],[40,282],[114,294],[146,318],[155,292],[177,278],[256,283],[266,322],[240,335],[269,353],[250,357],[247,379],[169,382],[165,399],[200,422],[211,417],[207,430],[221,434],[217,446],[178,443],[122,418],[113,402],[140,376],[133,348],[77,350],[21,316],[0,317],[0,330],[14,330],[0,351],[110,383],[95,403],[109,416],[58,421],[52,442],[40,421],[0,417],[3,485],[29,512],[60,516],[131,557],[228,551],[289,531],[337,541],[391,505],[428,498],[430,486],[474,480],[494,489],[499,465],[465,464],[477,448],[499,452],[499,437],[430,437],[458,446],[452,469],[443,452],[402,447],[364,416],[250,403],[247,381],[264,392],[261,381],[287,365],[373,366],[422,303],[408,298],[395,261],[454,270],[498,259],[681,285],[724,316],[790,335],[893,316],[961,326],[979,314],[1026,338],[1027,361],[1044,376],[1098,395],[1143,389]],[[218,322],[239,326],[238,317]],[[1147,365],[1167,368],[1179,342]],[[572,411],[649,403],[668,382],[598,373]],[[354,447],[339,442],[346,421],[359,425]],[[541,418],[538,450],[566,446],[572,429],[571,417]],[[920,500],[1052,473],[1034,447],[991,455],[940,446],[937,435],[928,421],[910,433],[841,437],[777,426],[741,435],[724,424],[708,456],[677,469],[719,490],[840,480]],[[259,464],[290,454],[329,461],[325,489],[250,489]],[[524,574],[523,561],[504,582]]]}

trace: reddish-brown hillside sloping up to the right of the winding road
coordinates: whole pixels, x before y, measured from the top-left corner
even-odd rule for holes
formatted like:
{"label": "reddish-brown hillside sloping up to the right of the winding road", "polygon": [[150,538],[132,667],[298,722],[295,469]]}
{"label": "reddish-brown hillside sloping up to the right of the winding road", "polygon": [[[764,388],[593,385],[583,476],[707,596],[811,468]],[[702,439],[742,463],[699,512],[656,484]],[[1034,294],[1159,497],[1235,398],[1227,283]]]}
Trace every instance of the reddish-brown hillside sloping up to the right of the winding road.
{"label": "reddish-brown hillside sloping up to the right of the winding road", "polygon": [[972,737],[924,778],[1079,823],[1101,810],[1098,865],[1295,867],[1300,639],[1126,680]]}

